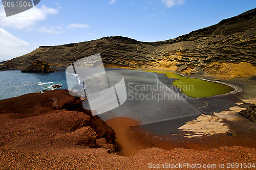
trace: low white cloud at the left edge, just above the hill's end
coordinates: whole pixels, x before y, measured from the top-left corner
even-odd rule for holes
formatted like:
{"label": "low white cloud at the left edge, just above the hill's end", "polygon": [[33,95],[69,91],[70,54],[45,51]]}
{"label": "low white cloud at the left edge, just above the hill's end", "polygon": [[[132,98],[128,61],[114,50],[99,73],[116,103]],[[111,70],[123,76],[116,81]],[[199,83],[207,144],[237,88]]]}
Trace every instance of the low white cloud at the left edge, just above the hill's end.
{"label": "low white cloud at the left edge, just above the hill's end", "polygon": [[0,60],[11,59],[29,53],[31,45],[0,28]]}

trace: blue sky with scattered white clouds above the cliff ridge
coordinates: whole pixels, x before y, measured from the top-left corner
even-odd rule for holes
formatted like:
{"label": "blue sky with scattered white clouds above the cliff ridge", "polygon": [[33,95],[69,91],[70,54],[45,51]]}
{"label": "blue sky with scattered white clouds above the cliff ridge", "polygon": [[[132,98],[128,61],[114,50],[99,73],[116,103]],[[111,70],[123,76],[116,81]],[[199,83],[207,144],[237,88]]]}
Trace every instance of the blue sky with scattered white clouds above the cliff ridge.
{"label": "blue sky with scattered white clouds above the cliff ridge", "polygon": [[1,2],[0,61],[40,45],[106,36],[151,42],[172,39],[253,8],[255,0],[41,0],[34,8],[6,17]]}

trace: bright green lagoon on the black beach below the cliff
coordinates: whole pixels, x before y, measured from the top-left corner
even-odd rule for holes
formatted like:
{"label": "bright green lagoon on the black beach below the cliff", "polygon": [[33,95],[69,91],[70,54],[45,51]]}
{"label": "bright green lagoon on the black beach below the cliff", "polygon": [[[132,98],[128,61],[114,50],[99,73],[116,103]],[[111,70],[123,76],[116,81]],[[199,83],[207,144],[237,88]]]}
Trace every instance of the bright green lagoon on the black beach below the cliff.
{"label": "bright green lagoon on the black beach below the cliff", "polygon": [[181,89],[181,92],[192,98],[206,98],[210,96],[225,94],[234,90],[233,87],[227,86],[225,84],[206,81],[197,78],[183,77],[179,74],[175,74],[174,72],[170,71],[141,71],[157,72],[160,74],[165,74],[166,77],[168,78],[177,79],[174,82],[172,82],[172,84]]}

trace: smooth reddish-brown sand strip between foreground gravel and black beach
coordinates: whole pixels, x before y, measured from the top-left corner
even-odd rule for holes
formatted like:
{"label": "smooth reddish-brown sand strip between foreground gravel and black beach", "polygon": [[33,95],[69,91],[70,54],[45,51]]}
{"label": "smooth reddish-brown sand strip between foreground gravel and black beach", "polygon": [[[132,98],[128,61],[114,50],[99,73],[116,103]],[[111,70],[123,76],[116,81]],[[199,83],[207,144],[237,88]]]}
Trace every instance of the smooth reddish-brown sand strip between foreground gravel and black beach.
{"label": "smooth reddish-brown sand strip between foreground gravel and black beach", "polygon": [[178,131],[175,134],[159,135],[137,126],[138,122],[130,118],[116,117],[106,121],[116,133],[117,154],[122,156],[134,156],[146,148],[161,148],[167,151],[178,148],[205,151],[234,145],[256,148],[256,125],[250,120],[241,118],[239,122],[224,123],[229,127],[227,133],[187,138],[184,134],[193,135],[193,132]]}

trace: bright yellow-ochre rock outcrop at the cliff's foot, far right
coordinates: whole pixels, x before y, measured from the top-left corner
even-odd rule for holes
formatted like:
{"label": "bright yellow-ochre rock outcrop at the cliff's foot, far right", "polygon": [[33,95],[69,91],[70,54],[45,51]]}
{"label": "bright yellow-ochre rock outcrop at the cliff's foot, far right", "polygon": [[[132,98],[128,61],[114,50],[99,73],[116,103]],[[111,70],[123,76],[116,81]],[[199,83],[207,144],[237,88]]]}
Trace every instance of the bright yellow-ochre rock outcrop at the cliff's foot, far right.
{"label": "bright yellow-ochre rock outcrop at the cliff's foot, far right", "polygon": [[203,69],[211,75],[227,76],[227,77],[252,77],[256,76],[256,68],[250,63],[241,62],[234,63],[220,63],[214,62]]}

